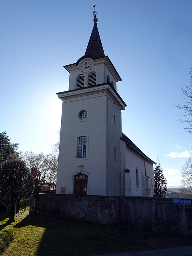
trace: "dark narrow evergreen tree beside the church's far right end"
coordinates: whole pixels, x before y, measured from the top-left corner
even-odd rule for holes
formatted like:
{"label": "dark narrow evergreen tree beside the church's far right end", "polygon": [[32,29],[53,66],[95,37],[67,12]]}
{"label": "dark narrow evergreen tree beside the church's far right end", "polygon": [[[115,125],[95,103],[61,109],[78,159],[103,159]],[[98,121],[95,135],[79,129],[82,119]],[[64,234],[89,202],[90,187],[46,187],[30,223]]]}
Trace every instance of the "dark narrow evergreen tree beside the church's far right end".
{"label": "dark narrow evergreen tree beside the church's far right end", "polygon": [[167,191],[167,180],[164,178],[160,163],[154,170],[154,197],[165,197]]}

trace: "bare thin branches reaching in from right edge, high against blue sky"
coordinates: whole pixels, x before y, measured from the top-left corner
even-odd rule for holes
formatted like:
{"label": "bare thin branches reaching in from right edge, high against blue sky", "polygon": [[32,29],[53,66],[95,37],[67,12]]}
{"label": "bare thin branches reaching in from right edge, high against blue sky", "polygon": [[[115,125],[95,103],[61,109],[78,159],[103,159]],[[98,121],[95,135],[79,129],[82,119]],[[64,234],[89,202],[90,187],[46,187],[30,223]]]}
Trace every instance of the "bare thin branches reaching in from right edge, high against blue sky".
{"label": "bare thin branches reaching in from right edge, high against blue sky", "polygon": [[183,124],[182,129],[188,133],[192,133],[192,68],[189,70],[190,82],[188,86],[180,87],[183,93],[184,102],[176,104],[176,108],[183,110],[182,115],[184,118],[180,118],[179,121]]}

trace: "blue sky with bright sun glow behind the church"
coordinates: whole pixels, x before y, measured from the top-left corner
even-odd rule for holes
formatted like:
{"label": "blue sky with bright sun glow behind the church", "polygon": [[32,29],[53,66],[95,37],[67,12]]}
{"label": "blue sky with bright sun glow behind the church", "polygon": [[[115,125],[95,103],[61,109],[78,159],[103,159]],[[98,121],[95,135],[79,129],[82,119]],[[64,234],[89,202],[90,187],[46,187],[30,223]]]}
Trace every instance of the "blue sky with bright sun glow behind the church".
{"label": "blue sky with bright sun glow behind the church", "polygon": [[122,81],[122,132],[160,158],[168,186],[192,155],[192,135],[178,126],[179,86],[192,67],[191,0],[0,0],[0,132],[19,150],[44,154],[58,141],[64,65],[84,55],[94,25]]}

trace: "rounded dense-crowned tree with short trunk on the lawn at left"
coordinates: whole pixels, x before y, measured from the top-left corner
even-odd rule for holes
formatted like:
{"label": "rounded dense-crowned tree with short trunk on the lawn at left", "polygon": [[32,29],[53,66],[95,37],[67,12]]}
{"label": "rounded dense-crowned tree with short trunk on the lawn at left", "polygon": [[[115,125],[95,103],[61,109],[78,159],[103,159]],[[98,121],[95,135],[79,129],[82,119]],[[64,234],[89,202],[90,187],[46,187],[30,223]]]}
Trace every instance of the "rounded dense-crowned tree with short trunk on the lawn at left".
{"label": "rounded dense-crowned tree with short trunk on the lawn at left", "polygon": [[16,201],[30,198],[34,190],[34,180],[24,161],[16,158],[0,164],[0,202],[8,209],[8,222],[15,221]]}

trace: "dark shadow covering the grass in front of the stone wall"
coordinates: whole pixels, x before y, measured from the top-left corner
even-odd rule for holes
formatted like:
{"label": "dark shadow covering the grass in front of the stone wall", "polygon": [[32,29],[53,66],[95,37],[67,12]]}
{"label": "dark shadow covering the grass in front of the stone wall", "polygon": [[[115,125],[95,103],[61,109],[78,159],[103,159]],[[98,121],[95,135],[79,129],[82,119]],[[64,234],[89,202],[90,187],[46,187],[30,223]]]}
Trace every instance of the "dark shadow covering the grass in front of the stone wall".
{"label": "dark shadow covering the grass in front of the stone wall", "polygon": [[154,249],[162,246],[191,245],[191,237],[136,232],[122,226],[93,224],[35,214],[26,216],[14,227],[21,228],[28,225],[43,230],[42,237],[38,238],[35,256],[84,256]]}

